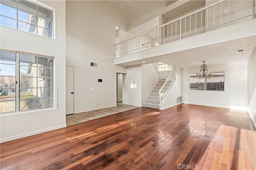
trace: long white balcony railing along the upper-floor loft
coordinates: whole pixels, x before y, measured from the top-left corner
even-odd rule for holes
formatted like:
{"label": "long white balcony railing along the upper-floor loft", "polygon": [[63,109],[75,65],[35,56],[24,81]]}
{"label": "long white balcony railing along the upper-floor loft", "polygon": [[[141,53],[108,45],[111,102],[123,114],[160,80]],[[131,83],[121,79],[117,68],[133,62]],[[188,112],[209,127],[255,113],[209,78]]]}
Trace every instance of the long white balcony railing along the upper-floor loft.
{"label": "long white balcony railing along the upper-floor loft", "polygon": [[256,0],[222,0],[117,43],[116,57],[248,21],[255,14]]}

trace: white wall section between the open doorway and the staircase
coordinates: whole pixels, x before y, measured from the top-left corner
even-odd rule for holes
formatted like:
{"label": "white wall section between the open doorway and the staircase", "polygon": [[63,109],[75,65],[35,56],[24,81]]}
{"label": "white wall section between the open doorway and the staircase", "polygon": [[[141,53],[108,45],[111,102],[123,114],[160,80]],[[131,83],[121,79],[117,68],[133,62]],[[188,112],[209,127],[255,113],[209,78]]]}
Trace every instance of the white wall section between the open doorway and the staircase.
{"label": "white wall section between the open doorway and the staircase", "polygon": [[[135,82],[137,88],[131,88],[131,83],[133,82]],[[123,104],[142,106],[141,65],[127,67],[127,73],[123,74]]]}

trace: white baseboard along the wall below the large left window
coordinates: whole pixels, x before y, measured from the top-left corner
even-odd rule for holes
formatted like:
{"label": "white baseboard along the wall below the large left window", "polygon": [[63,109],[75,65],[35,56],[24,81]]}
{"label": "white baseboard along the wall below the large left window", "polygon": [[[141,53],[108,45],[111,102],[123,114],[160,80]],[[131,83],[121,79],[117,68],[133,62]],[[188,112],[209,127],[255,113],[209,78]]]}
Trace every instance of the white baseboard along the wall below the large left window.
{"label": "white baseboard along the wall below the large left window", "polygon": [[35,135],[35,134],[40,134],[40,133],[43,133],[43,132],[48,132],[48,131],[51,131],[51,130],[56,130],[58,128],[64,128],[64,127],[67,127],[67,125],[63,124],[63,125],[59,125],[59,126],[55,126],[55,127],[50,127],[50,128],[44,128],[44,129],[36,130],[36,131],[33,131],[33,132],[27,132],[27,133],[23,133],[23,134],[18,134],[18,135],[14,135],[14,136],[10,136],[10,137],[7,137],[7,138],[0,139],[0,143],[4,143],[4,142],[11,141],[11,140],[16,140],[16,139],[32,136],[32,135]]}

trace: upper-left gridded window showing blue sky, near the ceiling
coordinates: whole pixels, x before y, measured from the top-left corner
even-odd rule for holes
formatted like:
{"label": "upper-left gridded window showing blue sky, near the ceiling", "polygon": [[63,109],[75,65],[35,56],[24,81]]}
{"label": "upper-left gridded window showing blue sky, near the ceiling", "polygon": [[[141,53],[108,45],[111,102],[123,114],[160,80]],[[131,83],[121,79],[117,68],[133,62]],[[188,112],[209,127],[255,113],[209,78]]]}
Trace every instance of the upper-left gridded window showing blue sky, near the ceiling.
{"label": "upper-left gridded window showing blue sky, near the ceiling", "polygon": [[1,0],[0,17],[1,26],[54,38],[54,11],[42,5],[27,0]]}

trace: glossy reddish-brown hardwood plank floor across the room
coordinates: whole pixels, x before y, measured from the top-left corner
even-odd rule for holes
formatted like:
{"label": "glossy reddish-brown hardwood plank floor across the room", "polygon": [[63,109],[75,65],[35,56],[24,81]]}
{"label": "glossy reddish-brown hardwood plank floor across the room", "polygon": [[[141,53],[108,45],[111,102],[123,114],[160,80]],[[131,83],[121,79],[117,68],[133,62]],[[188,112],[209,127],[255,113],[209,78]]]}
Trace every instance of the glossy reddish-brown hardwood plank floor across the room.
{"label": "glossy reddish-brown hardwood plank floor across the room", "polygon": [[0,145],[2,169],[256,169],[247,111],[146,107]]}

